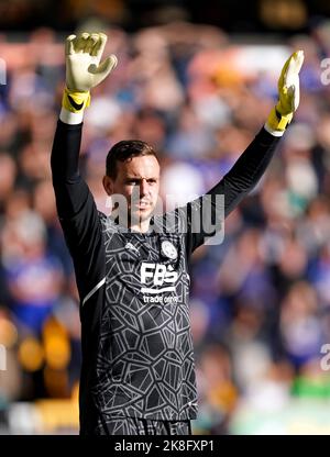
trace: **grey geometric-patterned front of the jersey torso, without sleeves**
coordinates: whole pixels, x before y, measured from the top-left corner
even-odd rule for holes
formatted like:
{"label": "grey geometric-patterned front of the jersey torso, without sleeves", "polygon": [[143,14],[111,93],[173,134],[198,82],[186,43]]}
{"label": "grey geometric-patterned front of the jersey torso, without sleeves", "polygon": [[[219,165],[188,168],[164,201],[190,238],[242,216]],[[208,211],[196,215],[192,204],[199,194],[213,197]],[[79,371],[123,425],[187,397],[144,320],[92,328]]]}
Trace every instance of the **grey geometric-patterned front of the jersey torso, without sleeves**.
{"label": "grey geometric-patterned front of the jersey torso, without sleeves", "polygon": [[[107,277],[92,387],[97,408],[110,417],[195,419],[186,236],[180,230],[132,233],[100,212],[99,219]],[[155,221],[160,228],[164,219]],[[162,252],[164,241],[176,258]]]}

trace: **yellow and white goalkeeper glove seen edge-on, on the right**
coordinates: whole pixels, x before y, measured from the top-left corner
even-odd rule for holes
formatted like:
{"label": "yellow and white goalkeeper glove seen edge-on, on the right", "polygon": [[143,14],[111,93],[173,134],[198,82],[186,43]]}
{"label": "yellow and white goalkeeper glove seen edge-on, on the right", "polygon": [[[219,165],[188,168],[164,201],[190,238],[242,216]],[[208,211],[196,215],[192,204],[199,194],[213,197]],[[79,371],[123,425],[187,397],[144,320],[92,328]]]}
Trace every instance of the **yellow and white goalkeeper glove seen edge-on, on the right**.
{"label": "yellow and white goalkeeper glove seen edge-on, on the right", "polygon": [[277,85],[278,102],[266,121],[267,130],[274,134],[283,134],[299,105],[299,71],[302,63],[304,52],[297,51],[284,64]]}

